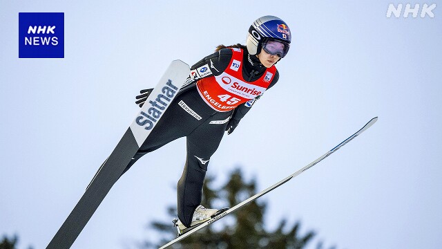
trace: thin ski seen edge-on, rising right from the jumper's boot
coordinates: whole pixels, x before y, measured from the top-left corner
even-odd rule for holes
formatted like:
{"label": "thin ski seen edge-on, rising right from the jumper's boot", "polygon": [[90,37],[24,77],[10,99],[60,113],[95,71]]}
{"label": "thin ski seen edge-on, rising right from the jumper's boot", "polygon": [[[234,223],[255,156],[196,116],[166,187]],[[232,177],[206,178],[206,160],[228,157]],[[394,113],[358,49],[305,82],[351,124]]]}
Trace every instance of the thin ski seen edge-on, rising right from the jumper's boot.
{"label": "thin ski seen edge-on, rising right from the jumper's boot", "polygon": [[302,167],[302,169],[299,169],[294,174],[291,174],[290,176],[287,176],[287,178],[284,178],[281,181],[279,181],[278,183],[275,183],[275,184],[271,185],[270,187],[267,187],[267,189],[262,190],[261,192],[259,192],[258,194],[255,194],[254,196],[251,196],[249,199],[242,201],[241,203],[238,203],[237,205],[233,206],[233,208],[229,208],[228,210],[221,212],[219,215],[213,216],[208,221],[205,221],[204,223],[201,223],[200,225],[196,225],[195,228],[192,228],[191,230],[187,230],[183,234],[178,235],[178,237],[176,239],[173,239],[173,241],[166,243],[164,246],[160,247],[160,249],[171,246],[173,243],[176,243],[186,237],[189,237],[194,232],[197,232],[198,230],[206,227],[206,225],[210,225],[211,223],[222,219],[227,214],[230,214],[231,212],[235,212],[236,210],[238,210],[238,208],[241,208],[242,206],[246,205],[247,203],[250,203],[251,201],[255,201],[260,196],[263,196],[263,195],[267,194],[268,192],[271,192],[271,190],[276,189],[276,187],[279,187],[280,185],[287,183],[288,181],[291,180],[291,178],[294,178],[294,177],[298,176],[299,174],[301,174],[302,172],[305,172],[307,169],[316,165],[316,163],[319,163],[321,160],[324,160],[325,158],[327,158],[327,156],[330,156],[332,153],[334,153],[335,151],[340,149],[340,147],[343,147],[344,145],[346,145],[347,142],[350,142],[351,140],[353,140],[353,138],[356,138],[356,136],[359,136],[366,129],[371,127],[377,120],[378,120],[378,117],[372,118],[372,120],[369,120],[369,122],[367,122],[367,124],[365,124],[364,127],[362,127],[360,130],[356,131],[356,133],[354,133],[352,136],[349,136],[349,138],[343,140],[343,142],[340,142],[340,144],[336,145],[336,147],[334,147],[333,149],[330,149],[329,151],[327,151],[327,153],[323,154],[323,156],[320,156],[318,159],[314,160],[309,165]]}

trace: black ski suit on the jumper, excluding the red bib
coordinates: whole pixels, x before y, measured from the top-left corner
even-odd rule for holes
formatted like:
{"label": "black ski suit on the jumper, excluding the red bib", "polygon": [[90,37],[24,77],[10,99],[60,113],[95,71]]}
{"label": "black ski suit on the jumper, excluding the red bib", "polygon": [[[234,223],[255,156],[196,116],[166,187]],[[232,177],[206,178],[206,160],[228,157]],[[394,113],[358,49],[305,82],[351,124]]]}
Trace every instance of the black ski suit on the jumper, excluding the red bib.
{"label": "black ski suit on the jumper, excluding the red bib", "polygon": [[[266,71],[265,66],[260,64],[255,55],[249,55],[247,49],[243,49],[242,75],[244,80],[253,82],[259,79]],[[232,50],[222,48],[191,67],[195,73],[201,66],[210,66],[211,73],[204,75],[210,77],[220,75],[231,62]],[[224,131],[231,133],[238,122],[249,111],[250,107],[240,104],[233,111],[220,112],[209,107],[202,99],[195,86],[195,82],[202,77],[191,76],[163,117],[148,136],[140,150],[134,156],[131,163],[126,167],[126,172],[144,154],[154,151],[177,139],[186,137],[187,157],[184,171],[177,184],[177,212],[178,218],[186,227],[191,224],[193,212],[202,200],[202,186],[206,176],[207,165],[213,153],[220,145]],[[269,87],[273,86],[279,78],[276,71]]]}

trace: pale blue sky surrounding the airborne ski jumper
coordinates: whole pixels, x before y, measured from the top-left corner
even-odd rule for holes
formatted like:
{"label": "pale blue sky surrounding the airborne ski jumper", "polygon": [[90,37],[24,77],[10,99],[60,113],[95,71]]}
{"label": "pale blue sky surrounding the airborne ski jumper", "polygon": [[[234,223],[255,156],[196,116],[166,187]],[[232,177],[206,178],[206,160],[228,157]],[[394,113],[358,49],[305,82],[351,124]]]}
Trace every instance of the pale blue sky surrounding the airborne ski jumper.
{"label": "pale blue sky surrounding the airborne ski jumper", "polygon": [[[263,190],[378,116],[262,197],[267,228],[301,221],[318,232],[309,248],[439,248],[442,3],[416,2],[436,3],[434,18],[387,18],[390,3],[407,2],[0,1],[0,234],[45,248],[131,124],[137,92],[173,59],[244,44],[256,18],[276,15],[293,34],[280,81],[223,138],[209,174],[222,183],[240,166]],[[65,13],[64,59],[19,59],[19,12]],[[184,160],[184,139],[144,156],[73,248],[153,237],[146,223],[173,218]]]}

